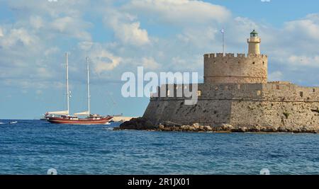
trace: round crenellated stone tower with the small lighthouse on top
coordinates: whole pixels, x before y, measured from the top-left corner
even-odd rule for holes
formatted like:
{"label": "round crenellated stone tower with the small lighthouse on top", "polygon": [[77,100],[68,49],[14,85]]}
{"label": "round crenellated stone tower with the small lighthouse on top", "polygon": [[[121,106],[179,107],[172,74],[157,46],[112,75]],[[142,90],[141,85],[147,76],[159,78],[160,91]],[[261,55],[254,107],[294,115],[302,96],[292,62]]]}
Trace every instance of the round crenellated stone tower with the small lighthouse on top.
{"label": "round crenellated stone tower with the small lighthouse on top", "polygon": [[248,55],[204,55],[204,82],[207,84],[264,84],[267,83],[267,55],[261,55],[261,39],[254,30],[250,33]]}

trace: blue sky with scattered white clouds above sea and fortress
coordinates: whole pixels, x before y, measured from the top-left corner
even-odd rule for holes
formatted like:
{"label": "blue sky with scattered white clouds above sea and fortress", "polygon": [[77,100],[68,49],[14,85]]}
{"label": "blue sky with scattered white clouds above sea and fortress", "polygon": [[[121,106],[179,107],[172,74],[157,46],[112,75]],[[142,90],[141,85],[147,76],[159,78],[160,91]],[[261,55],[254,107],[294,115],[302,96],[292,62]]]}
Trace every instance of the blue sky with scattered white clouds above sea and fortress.
{"label": "blue sky with scattered white clouds above sea and fortress", "polygon": [[198,71],[203,54],[247,53],[255,29],[269,80],[319,86],[319,1],[0,0],[0,119],[65,110],[69,53],[71,112],[140,116],[149,98],[123,98],[125,71]]}

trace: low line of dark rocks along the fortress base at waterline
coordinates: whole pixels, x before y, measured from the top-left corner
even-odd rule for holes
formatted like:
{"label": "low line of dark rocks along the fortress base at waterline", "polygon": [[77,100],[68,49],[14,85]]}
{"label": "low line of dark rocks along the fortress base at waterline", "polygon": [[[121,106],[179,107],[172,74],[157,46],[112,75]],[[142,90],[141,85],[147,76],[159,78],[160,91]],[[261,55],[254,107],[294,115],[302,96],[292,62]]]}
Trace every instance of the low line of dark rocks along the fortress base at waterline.
{"label": "low line of dark rocks along the fortress base at waterline", "polygon": [[161,122],[157,125],[152,124],[150,120],[144,118],[133,118],[127,122],[123,122],[114,130],[150,130],[150,131],[174,131],[174,132],[293,132],[293,133],[319,133],[318,127],[235,127],[229,124],[221,125],[200,125],[194,123],[192,125],[182,125],[176,122]]}

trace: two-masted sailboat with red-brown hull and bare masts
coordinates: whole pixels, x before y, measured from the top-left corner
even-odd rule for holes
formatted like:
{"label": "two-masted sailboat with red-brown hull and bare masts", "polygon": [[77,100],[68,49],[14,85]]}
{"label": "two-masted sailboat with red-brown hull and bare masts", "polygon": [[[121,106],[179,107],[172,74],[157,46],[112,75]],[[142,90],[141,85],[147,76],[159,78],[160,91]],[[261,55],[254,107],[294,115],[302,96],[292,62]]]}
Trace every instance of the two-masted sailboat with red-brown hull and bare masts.
{"label": "two-masted sailboat with red-brown hull and bare masts", "polygon": [[[103,117],[102,115],[91,114],[90,112],[90,80],[89,80],[89,58],[86,57],[86,71],[87,71],[87,102],[88,110],[82,113],[75,113],[74,115],[69,115],[69,63],[68,55],[65,55],[65,64],[67,68],[67,110],[49,112],[45,114],[45,118],[50,123],[55,124],[67,124],[67,125],[105,125],[113,118],[113,116]],[[86,118],[79,118],[78,116],[86,116]]]}

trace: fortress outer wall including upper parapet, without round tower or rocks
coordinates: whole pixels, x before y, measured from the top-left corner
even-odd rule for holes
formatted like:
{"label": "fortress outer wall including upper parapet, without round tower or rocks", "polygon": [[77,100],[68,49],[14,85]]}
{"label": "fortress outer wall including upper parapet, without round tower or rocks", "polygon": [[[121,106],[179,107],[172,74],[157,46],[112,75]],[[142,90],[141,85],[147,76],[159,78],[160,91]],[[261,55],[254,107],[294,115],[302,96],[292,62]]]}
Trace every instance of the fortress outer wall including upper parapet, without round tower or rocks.
{"label": "fortress outer wall including upper parapet, without round tower or rocks", "polygon": [[[171,121],[184,125],[198,122],[211,126],[225,123],[235,127],[319,129],[319,88],[276,83],[198,84],[198,91],[202,92],[196,105],[184,105],[184,98],[151,98],[143,117],[154,124]],[[312,101],[307,101],[308,96]]]}

